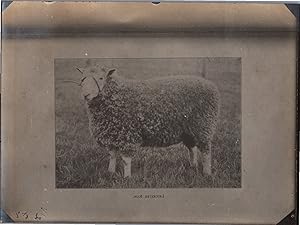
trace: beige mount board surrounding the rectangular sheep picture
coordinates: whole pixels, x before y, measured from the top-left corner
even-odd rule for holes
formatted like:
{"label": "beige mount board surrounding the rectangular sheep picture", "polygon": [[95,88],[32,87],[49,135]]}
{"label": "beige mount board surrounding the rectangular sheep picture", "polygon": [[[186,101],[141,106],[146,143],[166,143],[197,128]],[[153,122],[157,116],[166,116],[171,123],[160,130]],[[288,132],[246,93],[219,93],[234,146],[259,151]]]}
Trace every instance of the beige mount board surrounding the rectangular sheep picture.
{"label": "beige mount board surrounding the rectangular sheep picture", "polygon": [[[294,209],[296,20],[283,4],[17,1],[2,18],[13,220],[275,224]],[[56,188],[55,59],[187,57],[241,58],[241,187]]]}

